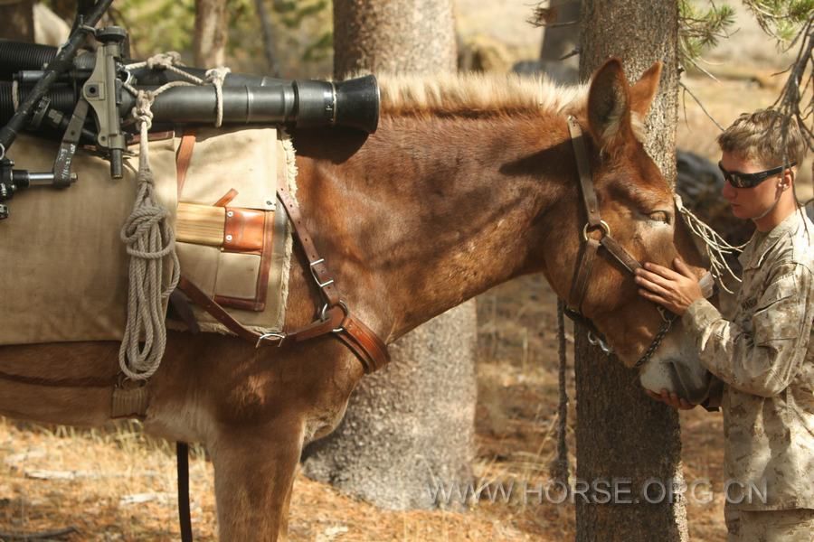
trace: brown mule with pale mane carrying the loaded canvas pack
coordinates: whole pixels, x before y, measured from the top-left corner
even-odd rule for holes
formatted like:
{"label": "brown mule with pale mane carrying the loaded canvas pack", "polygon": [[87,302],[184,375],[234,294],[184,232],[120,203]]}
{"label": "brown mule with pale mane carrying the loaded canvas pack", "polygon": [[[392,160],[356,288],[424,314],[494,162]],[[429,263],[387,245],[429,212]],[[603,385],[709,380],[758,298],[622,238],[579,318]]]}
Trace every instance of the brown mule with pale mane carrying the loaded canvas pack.
{"label": "brown mule with pale mane carrying the loaded canvas pack", "polygon": [[[632,257],[668,264],[678,255],[702,274],[673,195],[635,135],[656,93],[660,66],[629,86],[619,61],[590,89],[490,79],[383,80],[374,135],[295,132],[298,201],[343,300],[385,342],[484,292],[542,272],[569,293],[585,223],[573,115],[588,154],[602,220]],[[288,325],[321,306],[302,252],[289,279]],[[632,278],[599,258],[582,312],[632,365],[658,332],[655,306]],[[672,378],[680,324],[643,368]],[[0,371],[30,378],[112,378],[118,343],[0,348]],[[654,369],[655,368],[655,369]],[[169,333],[148,384],[145,429],[203,442],[212,454],[224,540],[284,539],[300,451],[330,432],[364,374],[341,341],[294,347],[236,337]],[[650,378],[651,381],[657,381]],[[55,388],[0,378],[0,413],[70,425],[108,421],[110,388]]]}

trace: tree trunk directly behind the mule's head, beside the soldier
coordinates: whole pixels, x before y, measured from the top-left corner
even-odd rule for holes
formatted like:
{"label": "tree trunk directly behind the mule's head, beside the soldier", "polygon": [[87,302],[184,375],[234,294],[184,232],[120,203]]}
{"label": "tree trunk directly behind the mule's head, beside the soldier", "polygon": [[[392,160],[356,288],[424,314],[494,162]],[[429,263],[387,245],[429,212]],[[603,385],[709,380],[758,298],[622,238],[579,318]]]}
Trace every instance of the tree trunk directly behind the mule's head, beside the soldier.
{"label": "tree trunk directly behind the mule's head, beside the soldier", "polygon": [[[665,63],[646,122],[646,147],[671,183],[676,178],[677,16],[674,0],[582,0],[583,79],[611,55],[622,59],[631,81],[654,61]],[[576,539],[686,540],[684,500],[660,498],[662,487],[669,490],[683,481],[677,412],[648,398],[638,372],[592,348],[584,329],[576,337],[575,371],[577,479],[607,479],[624,491],[609,504],[587,503],[577,495]],[[648,497],[642,495],[645,488]]]}

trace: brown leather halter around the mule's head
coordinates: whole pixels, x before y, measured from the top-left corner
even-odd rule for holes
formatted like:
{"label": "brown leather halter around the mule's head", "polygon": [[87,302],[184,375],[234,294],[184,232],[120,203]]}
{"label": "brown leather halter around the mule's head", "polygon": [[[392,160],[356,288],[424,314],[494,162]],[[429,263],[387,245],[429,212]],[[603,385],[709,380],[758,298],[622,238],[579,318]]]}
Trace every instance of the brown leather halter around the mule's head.
{"label": "brown leather halter around the mule's head", "polygon": [[[582,192],[582,203],[585,212],[588,215],[588,221],[582,228],[582,244],[580,247],[580,256],[577,265],[574,268],[573,280],[571,283],[571,292],[568,294],[566,302],[565,314],[575,322],[580,322],[586,325],[592,333],[599,335],[596,326],[593,325],[590,319],[582,314],[582,304],[585,301],[585,294],[588,291],[588,283],[591,278],[593,264],[596,261],[597,254],[599,254],[600,247],[605,248],[607,254],[611,255],[617,262],[630,275],[634,274],[637,269],[641,267],[639,261],[630,255],[617,241],[611,236],[611,227],[607,222],[601,219],[599,210],[599,202],[596,197],[596,191],[593,189],[593,180],[591,176],[591,164],[588,161],[588,152],[585,148],[585,135],[582,133],[582,128],[573,117],[568,117],[568,130],[571,133],[571,142],[573,144],[573,153],[576,155],[577,172],[580,176],[580,192]],[[588,233],[592,230],[601,230],[601,238],[592,238]],[[664,322],[661,328],[656,333],[653,341],[650,342],[648,350],[639,358],[634,367],[639,368],[653,357],[653,354],[658,350],[658,346],[664,339],[667,332],[676,321],[677,315],[668,312],[662,307],[658,307],[661,318]],[[592,341],[593,342],[602,342]],[[603,348],[603,350],[606,350]],[[607,352],[606,352],[607,353]]]}

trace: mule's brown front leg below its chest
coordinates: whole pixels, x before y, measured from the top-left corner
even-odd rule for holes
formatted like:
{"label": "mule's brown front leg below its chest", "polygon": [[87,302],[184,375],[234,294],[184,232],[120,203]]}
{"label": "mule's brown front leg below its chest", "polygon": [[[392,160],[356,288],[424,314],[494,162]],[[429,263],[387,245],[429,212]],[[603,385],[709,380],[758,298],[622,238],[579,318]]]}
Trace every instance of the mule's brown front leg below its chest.
{"label": "mule's brown front leg below its chest", "polygon": [[211,448],[221,540],[288,538],[302,440],[300,420],[224,428]]}

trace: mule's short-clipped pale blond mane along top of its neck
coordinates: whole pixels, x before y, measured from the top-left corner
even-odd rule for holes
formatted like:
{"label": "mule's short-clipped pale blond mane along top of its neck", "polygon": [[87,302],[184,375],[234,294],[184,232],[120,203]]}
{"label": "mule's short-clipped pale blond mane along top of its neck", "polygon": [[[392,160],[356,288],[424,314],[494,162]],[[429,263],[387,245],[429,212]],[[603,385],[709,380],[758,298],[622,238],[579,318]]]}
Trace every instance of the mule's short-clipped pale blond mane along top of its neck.
{"label": "mule's short-clipped pale blond mane along top of its neck", "polygon": [[584,107],[587,86],[561,87],[516,74],[442,74],[378,77],[382,114],[390,117],[482,117],[570,113]]}

